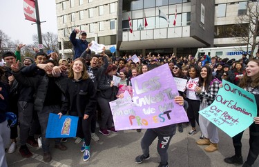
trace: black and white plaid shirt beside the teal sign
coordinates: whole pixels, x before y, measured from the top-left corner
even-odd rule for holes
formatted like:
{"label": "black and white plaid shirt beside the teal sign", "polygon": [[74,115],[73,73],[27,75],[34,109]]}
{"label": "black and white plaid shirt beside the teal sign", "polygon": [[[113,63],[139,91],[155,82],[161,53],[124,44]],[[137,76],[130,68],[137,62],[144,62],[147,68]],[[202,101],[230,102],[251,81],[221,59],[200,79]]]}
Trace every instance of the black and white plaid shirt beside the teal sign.
{"label": "black and white plaid shirt beside the teal sign", "polygon": [[212,104],[214,101],[216,95],[218,94],[218,90],[220,89],[220,83],[218,81],[214,81],[211,86],[209,86],[209,92],[202,91],[200,95],[200,101],[202,101],[203,98],[207,99],[208,106]]}

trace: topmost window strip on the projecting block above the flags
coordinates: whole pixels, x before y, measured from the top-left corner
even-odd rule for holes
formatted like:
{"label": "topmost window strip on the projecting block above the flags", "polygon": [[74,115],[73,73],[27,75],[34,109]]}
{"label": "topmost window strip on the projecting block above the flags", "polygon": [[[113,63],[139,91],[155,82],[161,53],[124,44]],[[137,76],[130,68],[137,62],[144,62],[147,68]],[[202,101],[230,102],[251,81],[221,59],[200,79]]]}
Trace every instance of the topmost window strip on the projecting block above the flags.
{"label": "topmost window strip on the projecting block above the flags", "polygon": [[155,8],[158,6],[168,6],[178,3],[190,2],[191,0],[138,0],[138,1],[123,1],[122,10],[124,12],[132,10],[140,10],[146,8]]}

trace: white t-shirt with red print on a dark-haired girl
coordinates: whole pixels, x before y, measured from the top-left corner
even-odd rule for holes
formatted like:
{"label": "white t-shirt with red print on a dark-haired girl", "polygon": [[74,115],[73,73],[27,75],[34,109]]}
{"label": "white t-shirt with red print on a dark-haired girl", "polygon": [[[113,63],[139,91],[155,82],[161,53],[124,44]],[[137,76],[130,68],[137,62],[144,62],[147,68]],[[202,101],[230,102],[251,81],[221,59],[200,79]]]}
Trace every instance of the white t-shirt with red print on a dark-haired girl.
{"label": "white t-shirt with red print on a dark-haired girl", "polygon": [[195,95],[195,87],[198,86],[198,81],[199,78],[195,78],[195,79],[189,79],[189,81],[187,81],[186,83],[186,97],[188,99],[192,99],[192,100],[200,100],[200,98],[198,96]]}

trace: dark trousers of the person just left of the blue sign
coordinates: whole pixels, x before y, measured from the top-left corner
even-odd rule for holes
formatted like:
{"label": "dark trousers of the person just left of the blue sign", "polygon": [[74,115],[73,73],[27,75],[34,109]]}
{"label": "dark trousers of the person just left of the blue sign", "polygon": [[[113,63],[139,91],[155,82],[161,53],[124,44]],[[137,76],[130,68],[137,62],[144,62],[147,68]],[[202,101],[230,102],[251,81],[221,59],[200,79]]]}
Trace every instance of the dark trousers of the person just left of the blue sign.
{"label": "dark trousers of the person just left of the blue sign", "polygon": [[[41,142],[44,153],[50,152],[50,139],[46,139],[46,130],[48,125],[48,116],[50,112],[53,114],[58,114],[60,112],[60,106],[44,106],[41,111],[38,111],[39,124],[41,125]],[[55,139],[55,144],[60,143],[60,138]]]}

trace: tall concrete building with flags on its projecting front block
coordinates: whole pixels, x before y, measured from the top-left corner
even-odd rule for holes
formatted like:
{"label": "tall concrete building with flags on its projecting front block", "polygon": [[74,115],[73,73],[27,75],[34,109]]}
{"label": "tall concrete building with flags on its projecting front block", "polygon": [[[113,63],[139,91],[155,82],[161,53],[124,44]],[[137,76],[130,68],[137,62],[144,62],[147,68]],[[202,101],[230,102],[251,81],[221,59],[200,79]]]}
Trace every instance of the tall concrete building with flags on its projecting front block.
{"label": "tall concrete building with flags on its projecting front block", "polygon": [[60,52],[64,57],[73,55],[69,35],[74,28],[85,30],[88,41],[106,49],[116,46],[117,55],[174,52],[186,56],[194,55],[197,48],[241,45],[231,31],[249,2],[56,0]]}

